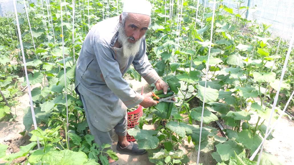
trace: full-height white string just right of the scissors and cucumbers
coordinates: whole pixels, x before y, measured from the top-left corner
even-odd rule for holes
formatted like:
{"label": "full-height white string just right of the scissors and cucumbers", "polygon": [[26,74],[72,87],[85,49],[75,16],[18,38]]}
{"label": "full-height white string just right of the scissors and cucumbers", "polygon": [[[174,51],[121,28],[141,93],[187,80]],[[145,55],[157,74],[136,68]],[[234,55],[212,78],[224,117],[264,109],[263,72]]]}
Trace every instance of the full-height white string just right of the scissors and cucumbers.
{"label": "full-height white string just right of the scissors and cucumbers", "polygon": [[212,12],[212,20],[211,20],[210,43],[209,43],[209,50],[208,50],[208,59],[207,59],[207,63],[206,63],[205,86],[204,86],[204,95],[203,95],[203,104],[202,104],[202,113],[201,113],[201,124],[200,124],[200,133],[199,133],[199,146],[198,146],[197,165],[199,164],[199,158],[200,158],[200,145],[201,145],[202,124],[203,124],[203,112],[204,112],[204,104],[205,104],[205,93],[206,93],[207,77],[208,77],[208,71],[209,71],[209,57],[210,57],[210,51],[211,51],[211,43],[212,43],[212,34],[213,34],[213,23],[214,23],[215,10],[216,10],[216,0],[213,1],[213,12]]}

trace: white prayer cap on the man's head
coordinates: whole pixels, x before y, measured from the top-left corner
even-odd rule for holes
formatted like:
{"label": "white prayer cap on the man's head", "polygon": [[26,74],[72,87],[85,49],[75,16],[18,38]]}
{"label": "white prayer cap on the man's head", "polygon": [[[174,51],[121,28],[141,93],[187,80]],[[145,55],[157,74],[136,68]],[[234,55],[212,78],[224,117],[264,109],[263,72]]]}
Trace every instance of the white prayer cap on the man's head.
{"label": "white prayer cap on the man's head", "polygon": [[146,0],[124,0],[123,12],[151,16],[151,3]]}

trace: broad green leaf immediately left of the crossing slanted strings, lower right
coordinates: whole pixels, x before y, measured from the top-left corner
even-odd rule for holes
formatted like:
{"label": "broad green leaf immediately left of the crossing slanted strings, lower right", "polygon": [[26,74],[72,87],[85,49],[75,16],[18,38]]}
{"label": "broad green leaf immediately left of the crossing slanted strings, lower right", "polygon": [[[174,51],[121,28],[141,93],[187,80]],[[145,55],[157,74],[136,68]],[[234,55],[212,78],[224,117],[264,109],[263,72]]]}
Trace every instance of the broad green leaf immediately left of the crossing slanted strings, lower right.
{"label": "broad green leaf immediately left of the crossing slanted strings, lower right", "polygon": [[250,155],[257,149],[262,139],[258,134],[253,136],[250,130],[242,130],[236,137],[236,141],[242,143],[245,147],[250,149]]}

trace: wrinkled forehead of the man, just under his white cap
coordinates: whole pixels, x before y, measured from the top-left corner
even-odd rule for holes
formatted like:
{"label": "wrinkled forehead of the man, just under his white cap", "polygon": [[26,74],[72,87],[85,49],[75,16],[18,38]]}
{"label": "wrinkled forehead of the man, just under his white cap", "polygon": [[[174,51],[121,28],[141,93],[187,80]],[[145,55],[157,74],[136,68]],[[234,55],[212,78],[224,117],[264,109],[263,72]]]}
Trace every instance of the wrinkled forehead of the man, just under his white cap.
{"label": "wrinkled forehead of the man, just under his white cap", "polygon": [[138,27],[147,27],[150,24],[150,16],[147,16],[145,14],[137,14],[137,13],[128,13],[128,17],[126,19],[126,23],[128,24],[134,24]]}

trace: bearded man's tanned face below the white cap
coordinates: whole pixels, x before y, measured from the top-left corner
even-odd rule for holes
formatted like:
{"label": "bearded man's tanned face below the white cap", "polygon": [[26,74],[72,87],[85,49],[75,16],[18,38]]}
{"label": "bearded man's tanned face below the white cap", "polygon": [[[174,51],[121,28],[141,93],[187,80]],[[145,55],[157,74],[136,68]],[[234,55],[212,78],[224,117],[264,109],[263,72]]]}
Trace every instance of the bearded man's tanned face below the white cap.
{"label": "bearded man's tanned face below the white cap", "polygon": [[124,25],[128,42],[135,43],[143,37],[148,29],[150,17],[144,14],[128,13]]}

